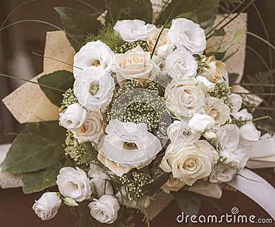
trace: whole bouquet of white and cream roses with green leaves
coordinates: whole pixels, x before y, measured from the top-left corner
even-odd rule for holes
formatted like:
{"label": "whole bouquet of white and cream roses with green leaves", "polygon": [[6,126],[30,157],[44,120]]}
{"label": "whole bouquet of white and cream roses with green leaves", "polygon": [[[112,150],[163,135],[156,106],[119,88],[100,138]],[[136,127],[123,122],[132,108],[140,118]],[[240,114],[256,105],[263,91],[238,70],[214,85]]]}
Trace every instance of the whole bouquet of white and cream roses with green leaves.
{"label": "whole bouquet of white and cream roses with green leaves", "polygon": [[67,55],[68,69],[32,81],[55,109],[46,121],[28,123],[3,163],[3,171],[23,173],[25,193],[57,184],[59,192],[34,203],[41,219],[52,219],[62,202],[83,203],[91,217],[112,224],[124,207],[146,215],[159,191],[205,195],[214,186],[220,193],[248,165],[259,118],[230,91],[224,63],[245,30],[206,52],[218,1],[186,9],[188,2],[172,1],[155,24],[150,1],[113,0],[103,22],[56,8],[76,53]]}

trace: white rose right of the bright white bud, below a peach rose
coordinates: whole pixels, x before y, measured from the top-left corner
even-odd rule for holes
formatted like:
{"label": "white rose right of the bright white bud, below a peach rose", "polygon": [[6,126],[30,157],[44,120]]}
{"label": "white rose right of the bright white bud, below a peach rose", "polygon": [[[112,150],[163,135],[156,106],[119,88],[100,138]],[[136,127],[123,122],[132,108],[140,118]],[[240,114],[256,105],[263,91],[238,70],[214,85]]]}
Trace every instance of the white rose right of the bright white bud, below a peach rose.
{"label": "white rose right of the bright white bud, below a peach rose", "polygon": [[227,124],[216,131],[217,138],[213,140],[214,147],[219,151],[234,151],[239,144],[240,130],[236,125]]}

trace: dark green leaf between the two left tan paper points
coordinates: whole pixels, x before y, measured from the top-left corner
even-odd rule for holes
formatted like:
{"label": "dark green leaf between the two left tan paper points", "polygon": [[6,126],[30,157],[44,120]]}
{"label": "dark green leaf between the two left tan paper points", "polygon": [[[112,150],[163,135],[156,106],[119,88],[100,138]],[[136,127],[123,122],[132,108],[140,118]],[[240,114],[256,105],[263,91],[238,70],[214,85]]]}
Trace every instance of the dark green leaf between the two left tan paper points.
{"label": "dark green leaf between the two left tan paper points", "polygon": [[[70,87],[74,86],[74,75],[72,74],[72,72],[68,72],[66,70],[56,71],[52,74],[41,76],[38,79],[38,82],[43,85],[50,85],[51,87],[56,87],[58,89],[63,89],[64,91],[66,91]],[[56,91],[43,86],[40,86],[40,88],[54,105],[60,107],[63,99],[61,91]]]}

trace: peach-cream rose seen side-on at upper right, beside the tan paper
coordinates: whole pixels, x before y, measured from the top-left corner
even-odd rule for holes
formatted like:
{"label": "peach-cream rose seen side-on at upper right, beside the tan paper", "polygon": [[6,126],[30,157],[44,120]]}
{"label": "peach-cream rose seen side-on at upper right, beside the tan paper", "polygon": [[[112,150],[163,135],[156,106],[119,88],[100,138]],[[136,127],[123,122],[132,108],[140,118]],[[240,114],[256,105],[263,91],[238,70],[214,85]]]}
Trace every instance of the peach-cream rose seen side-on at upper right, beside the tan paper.
{"label": "peach-cream rose seen side-on at upper right, beside the tan paper", "polygon": [[202,56],[201,60],[204,61],[207,67],[201,67],[200,76],[206,77],[213,83],[223,82],[223,76],[225,75],[225,63],[216,60],[214,55],[210,57]]}

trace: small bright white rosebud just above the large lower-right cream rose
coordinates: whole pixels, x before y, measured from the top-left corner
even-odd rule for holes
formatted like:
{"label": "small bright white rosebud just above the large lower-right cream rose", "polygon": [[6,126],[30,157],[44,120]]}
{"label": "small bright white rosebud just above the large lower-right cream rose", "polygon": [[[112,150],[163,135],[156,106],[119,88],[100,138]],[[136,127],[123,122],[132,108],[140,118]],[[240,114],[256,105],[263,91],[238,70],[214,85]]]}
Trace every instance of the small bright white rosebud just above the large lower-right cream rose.
{"label": "small bright white rosebud just above the large lower-right cream rose", "polygon": [[214,119],[206,114],[194,114],[189,121],[190,131],[194,134],[202,134],[214,127]]}

